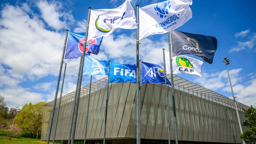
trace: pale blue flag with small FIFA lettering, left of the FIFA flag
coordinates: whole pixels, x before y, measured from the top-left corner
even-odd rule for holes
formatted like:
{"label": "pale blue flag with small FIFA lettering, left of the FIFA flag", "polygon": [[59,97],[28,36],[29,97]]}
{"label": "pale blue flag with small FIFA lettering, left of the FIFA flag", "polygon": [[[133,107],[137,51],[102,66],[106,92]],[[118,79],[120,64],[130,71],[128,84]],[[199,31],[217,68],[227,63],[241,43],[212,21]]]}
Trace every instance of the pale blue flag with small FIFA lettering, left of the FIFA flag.
{"label": "pale blue flag with small FIFA lettering, left of the FIFA flag", "polygon": [[108,65],[108,60],[98,60],[90,56],[85,56],[82,75],[108,75]]}

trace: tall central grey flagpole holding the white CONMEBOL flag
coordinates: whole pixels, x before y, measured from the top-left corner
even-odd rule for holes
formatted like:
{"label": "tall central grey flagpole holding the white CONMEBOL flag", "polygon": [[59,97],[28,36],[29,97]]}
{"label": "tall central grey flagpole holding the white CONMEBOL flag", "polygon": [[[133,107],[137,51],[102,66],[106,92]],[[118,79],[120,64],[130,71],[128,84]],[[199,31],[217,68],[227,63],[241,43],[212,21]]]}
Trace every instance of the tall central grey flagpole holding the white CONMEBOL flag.
{"label": "tall central grey flagpole holding the white CONMEBOL flag", "polygon": [[136,61],[136,73],[137,73],[137,77],[136,77],[136,80],[137,80],[137,121],[136,121],[136,124],[137,124],[137,138],[136,138],[136,143],[139,144],[140,143],[140,132],[139,132],[139,117],[140,117],[140,113],[139,113],[139,89],[140,89],[140,82],[139,82],[139,5],[136,5],[136,9],[137,9],[137,14],[136,14],[136,23],[137,23],[137,44],[136,44],[136,51],[137,51],[137,61]]}

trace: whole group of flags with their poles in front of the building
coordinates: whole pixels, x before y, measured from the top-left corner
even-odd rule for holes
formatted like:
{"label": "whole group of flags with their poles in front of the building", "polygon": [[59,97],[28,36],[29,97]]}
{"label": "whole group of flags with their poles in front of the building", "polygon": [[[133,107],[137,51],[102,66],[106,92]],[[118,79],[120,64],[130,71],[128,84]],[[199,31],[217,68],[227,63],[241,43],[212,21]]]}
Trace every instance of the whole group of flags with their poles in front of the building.
{"label": "whole group of flags with their poles in front of the building", "polygon": [[[92,75],[108,75],[107,83],[107,98],[105,110],[105,126],[104,138],[106,139],[106,121],[107,121],[107,104],[108,104],[108,87],[111,82],[133,82],[137,84],[136,101],[137,101],[137,144],[140,144],[140,84],[141,83],[156,83],[165,84],[166,94],[166,111],[167,111],[167,127],[168,127],[168,142],[170,144],[170,126],[168,113],[168,99],[167,99],[167,84],[172,87],[172,103],[174,111],[174,128],[175,128],[175,142],[178,143],[177,121],[175,110],[175,87],[173,80],[174,73],[186,73],[201,76],[200,60],[183,56],[182,54],[192,54],[202,57],[207,63],[213,62],[213,56],[217,49],[217,40],[214,37],[204,36],[200,34],[191,34],[185,32],[175,31],[175,28],[180,27],[192,17],[192,11],[189,5],[192,0],[172,0],[164,1],[157,4],[152,4],[139,8],[136,6],[137,15],[135,18],[134,9],[130,5],[129,0],[126,0],[121,6],[116,9],[100,9],[91,10],[89,7],[87,25],[85,33],[72,33],[66,31],[63,55],[59,70],[57,81],[57,88],[53,103],[53,109],[50,116],[50,123],[47,133],[47,144],[49,144],[50,134],[52,131],[52,123],[57,101],[57,94],[59,89],[60,76],[62,72],[62,65],[64,59],[80,58],[78,79],[76,85],[76,93],[74,97],[71,121],[69,126],[68,144],[73,144],[75,139],[76,119],[78,115],[78,106],[80,99],[80,90],[82,76],[90,76],[90,89],[88,95],[87,117],[85,123],[84,144],[86,142],[87,134],[87,120],[89,113],[89,103],[91,94],[91,80]],[[90,22],[91,21],[91,22]],[[139,21],[141,23],[139,23]],[[90,27],[90,28],[89,28]],[[97,60],[90,57],[91,53],[98,54],[99,47],[103,36],[108,36],[116,28],[134,29],[137,28],[136,38],[136,65],[118,64],[108,60]],[[162,34],[168,32],[169,52],[165,52],[164,69],[159,65],[140,62],[139,60],[139,44],[140,39],[153,34]],[[87,38],[89,37],[89,38]],[[174,49],[172,48],[174,46]],[[174,67],[175,65],[175,67]],[[166,68],[167,67],[167,68]],[[65,65],[66,68],[66,65]],[[156,69],[157,68],[157,69]],[[173,70],[174,68],[174,70]],[[171,75],[171,82],[166,79],[166,75]],[[64,70],[65,76],[65,70]],[[128,77],[129,76],[129,77]],[[152,78],[153,77],[153,78]],[[64,77],[62,82],[62,88]],[[61,90],[62,95],[62,90]],[[60,98],[61,98],[60,95]],[[61,99],[60,99],[61,100]],[[57,117],[60,108],[60,100],[58,105]],[[55,139],[57,120],[55,123],[54,137]]]}

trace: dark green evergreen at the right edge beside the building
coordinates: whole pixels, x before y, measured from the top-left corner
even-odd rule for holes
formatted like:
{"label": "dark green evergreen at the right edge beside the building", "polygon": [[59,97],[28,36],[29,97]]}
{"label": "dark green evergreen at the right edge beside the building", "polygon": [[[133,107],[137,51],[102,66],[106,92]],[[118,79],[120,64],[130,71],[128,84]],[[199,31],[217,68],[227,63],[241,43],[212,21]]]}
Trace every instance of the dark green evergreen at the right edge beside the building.
{"label": "dark green evergreen at the right edge beside the building", "polygon": [[243,109],[245,117],[247,118],[242,125],[246,126],[244,133],[240,135],[246,143],[256,143],[256,109],[250,107],[248,109]]}

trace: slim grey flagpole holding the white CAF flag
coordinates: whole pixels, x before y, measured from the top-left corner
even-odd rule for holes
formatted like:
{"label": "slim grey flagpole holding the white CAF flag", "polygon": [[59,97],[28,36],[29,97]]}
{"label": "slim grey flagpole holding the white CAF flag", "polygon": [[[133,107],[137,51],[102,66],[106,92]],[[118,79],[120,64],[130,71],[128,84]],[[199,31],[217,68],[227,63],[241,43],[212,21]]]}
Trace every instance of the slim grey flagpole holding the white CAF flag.
{"label": "slim grey flagpole holding the white CAF flag", "polygon": [[164,54],[164,73],[165,73],[165,97],[166,97],[166,113],[167,113],[167,128],[168,128],[168,144],[171,144],[170,140],[170,123],[169,123],[169,108],[168,108],[168,95],[167,95],[167,84],[166,84],[166,65],[165,65],[165,49],[163,48]]}

